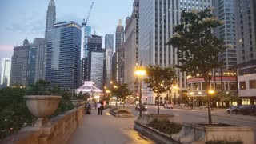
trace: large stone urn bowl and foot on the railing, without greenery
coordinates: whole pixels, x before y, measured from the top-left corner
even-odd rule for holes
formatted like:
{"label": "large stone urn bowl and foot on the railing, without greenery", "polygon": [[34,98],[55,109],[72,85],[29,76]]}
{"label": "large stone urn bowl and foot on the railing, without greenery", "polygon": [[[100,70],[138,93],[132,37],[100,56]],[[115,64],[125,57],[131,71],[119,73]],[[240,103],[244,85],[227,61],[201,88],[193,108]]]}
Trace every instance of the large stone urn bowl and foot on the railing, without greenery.
{"label": "large stone urn bowl and foot on the railing, without greenery", "polygon": [[34,126],[50,126],[47,118],[58,108],[62,96],[55,95],[26,95],[26,106],[30,113],[38,118]]}

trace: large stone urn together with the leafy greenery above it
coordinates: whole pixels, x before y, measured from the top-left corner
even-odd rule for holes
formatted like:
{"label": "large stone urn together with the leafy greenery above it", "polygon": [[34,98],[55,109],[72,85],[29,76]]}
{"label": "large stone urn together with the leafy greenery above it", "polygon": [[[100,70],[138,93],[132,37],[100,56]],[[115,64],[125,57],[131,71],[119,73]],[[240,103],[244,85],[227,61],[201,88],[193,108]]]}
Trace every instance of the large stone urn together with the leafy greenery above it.
{"label": "large stone urn together with the leafy greenery above it", "polygon": [[34,126],[50,126],[47,118],[58,108],[62,96],[54,95],[50,82],[39,80],[26,90],[26,106],[30,113],[38,118]]}

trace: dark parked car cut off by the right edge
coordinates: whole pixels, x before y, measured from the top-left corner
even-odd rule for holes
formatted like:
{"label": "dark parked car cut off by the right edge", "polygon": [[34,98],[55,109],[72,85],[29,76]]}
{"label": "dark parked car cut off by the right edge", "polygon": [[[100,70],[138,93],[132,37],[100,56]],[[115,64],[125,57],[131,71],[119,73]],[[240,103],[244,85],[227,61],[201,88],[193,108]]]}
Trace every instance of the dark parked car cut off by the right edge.
{"label": "dark parked car cut off by the right edge", "polygon": [[256,115],[256,105],[239,106],[232,111],[232,114]]}

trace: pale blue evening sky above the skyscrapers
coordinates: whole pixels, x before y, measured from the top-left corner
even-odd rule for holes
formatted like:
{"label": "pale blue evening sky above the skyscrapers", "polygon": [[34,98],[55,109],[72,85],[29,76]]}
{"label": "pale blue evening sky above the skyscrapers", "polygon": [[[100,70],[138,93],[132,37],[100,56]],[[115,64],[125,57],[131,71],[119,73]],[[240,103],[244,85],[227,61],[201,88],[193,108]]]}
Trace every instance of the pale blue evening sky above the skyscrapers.
{"label": "pale blue evening sky above the skyscrapers", "polygon": [[[44,38],[46,11],[50,0],[1,0],[0,1],[0,58],[11,58],[14,46],[21,46],[27,37]],[[132,13],[134,0],[54,0],[56,22],[74,21],[79,24],[86,18],[94,2],[87,26],[97,35],[115,34],[118,20]],[[102,38],[104,40],[104,38]],[[104,47],[104,42],[103,42]]]}

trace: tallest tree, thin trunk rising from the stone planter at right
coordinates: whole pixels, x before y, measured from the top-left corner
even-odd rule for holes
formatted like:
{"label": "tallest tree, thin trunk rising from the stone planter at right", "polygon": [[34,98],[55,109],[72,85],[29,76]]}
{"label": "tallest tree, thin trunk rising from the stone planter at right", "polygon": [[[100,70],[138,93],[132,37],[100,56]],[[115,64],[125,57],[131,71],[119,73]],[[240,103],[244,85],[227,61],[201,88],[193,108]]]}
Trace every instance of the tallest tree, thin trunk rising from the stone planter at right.
{"label": "tallest tree, thin trunk rising from the stone planter at right", "polygon": [[[196,76],[199,74],[206,82],[207,90],[210,90],[210,71],[222,66],[218,61],[218,54],[225,50],[222,46],[223,39],[218,39],[212,34],[215,27],[221,26],[222,21],[214,18],[210,9],[202,11],[182,11],[181,24],[174,27],[174,37],[170,38],[167,45],[177,49],[177,66],[182,72]],[[209,125],[211,122],[210,96],[207,93]]]}

